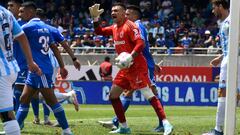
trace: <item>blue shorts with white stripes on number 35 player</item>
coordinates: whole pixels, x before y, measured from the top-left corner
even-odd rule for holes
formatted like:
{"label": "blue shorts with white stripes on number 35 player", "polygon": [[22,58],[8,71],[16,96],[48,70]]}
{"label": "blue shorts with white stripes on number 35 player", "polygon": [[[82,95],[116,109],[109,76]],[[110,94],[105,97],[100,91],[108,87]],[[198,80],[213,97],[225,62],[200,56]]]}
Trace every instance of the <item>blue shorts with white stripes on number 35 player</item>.
{"label": "blue shorts with white stripes on number 35 player", "polygon": [[52,88],[52,74],[42,74],[39,76],[34,73],[29,73],[27,76],[26,84],[34,89]]}

